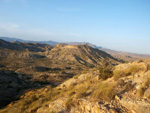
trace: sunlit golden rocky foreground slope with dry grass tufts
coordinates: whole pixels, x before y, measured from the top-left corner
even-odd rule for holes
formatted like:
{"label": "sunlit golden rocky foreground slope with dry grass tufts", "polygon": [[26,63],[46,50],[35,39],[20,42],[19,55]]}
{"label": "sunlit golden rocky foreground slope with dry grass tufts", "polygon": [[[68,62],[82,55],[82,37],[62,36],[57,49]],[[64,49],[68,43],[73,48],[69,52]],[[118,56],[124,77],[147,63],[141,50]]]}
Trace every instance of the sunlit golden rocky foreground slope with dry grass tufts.
{"label": "sunlit golden rocky foreground slope with dry grass tufts", "polygon": [[105,71],[91,69],[76,75],[56,88],[30,91],[0,112],[149,113],[150,61],[117,65],[112,76],[103,79],[107,66]]}

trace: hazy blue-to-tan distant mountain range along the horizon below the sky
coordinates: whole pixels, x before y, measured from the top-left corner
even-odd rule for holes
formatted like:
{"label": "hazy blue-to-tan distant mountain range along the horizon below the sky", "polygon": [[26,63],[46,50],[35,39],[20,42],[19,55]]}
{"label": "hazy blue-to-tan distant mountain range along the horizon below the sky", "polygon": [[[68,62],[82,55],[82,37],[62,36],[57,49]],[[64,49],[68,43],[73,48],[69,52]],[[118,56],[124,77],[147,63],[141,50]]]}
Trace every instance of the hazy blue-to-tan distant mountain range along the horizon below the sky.
{"label": "hazy blue-to-tan distant mountain range along the horizon below the sky", "polygon": [[50,46],[55,46],[58,43],[65,43],[67,45],[83,45],[83,44],[87,44],[87,45],[89,45],[89,46],[91,46],[93,48],[105,51],[108,54],[111,54],[115,58],[123,59],[125,61],[133,61],[133,60],[150,58],[150,55],[116,51],[116,50],[112,50],[112,49],[103,48],[101,46],[97,46],[97,45],[91,44],[89,42],[29,41],[29,40],[22,40],[22,39],[19,39],[19,38],[10,38],[10,37],[0,37],[0,39],[3,39],[3,40],[8,41],[8,42],[13,42],[13,43],[19,43],[19,42],[21,42],[21,43],[22,42],[25,42],[25,43],[38,43],[38,44],[47,44],[47,45],[50,45]]}

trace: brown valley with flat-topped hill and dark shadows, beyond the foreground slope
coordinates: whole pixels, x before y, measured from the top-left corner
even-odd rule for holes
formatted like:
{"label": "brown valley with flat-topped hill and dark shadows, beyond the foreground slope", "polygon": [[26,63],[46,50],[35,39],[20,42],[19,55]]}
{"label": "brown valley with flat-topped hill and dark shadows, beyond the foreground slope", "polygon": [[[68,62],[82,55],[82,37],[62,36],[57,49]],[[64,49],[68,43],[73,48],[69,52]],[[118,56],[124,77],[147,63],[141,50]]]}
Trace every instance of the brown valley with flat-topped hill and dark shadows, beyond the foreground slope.
{"label": "brown valley with flat-topped hill and dark shadows, beyond the foreground slope", "polygon": [[102,65],[119,63],[88,45],[7,42],[0,40],[0,98],[4,107],[24,92],[51,84],[56,87],[74,75]]}

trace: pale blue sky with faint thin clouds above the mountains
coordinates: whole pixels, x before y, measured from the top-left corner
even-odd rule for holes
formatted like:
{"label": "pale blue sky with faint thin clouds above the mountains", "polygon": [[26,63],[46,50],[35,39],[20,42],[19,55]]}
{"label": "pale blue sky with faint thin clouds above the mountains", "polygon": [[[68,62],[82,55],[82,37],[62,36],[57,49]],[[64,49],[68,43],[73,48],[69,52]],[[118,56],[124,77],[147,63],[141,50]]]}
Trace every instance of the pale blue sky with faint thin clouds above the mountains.
{"label": "pale blue sky with faint thin clouds above the mountains", "polygon": [[150,54],[150,0],[0,0],[0,36]]}

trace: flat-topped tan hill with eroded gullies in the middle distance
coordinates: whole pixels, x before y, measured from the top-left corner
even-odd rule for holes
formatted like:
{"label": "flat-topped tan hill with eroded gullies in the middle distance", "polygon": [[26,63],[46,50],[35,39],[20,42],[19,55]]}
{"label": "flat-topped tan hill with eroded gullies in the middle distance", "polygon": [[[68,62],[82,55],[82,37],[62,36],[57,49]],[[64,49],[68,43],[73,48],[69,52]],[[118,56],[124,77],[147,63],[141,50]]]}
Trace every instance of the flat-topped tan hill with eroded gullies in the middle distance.
{"label": "flat-topped tan hill with eroded gullies in the middle distance", "polygon": [[47,55],[49,59],[57,62],[80,63],[83,65],[98,65],[102,60],[117,63],[117,59],[104,51],[92,48],[89,45],[56,45]]}

